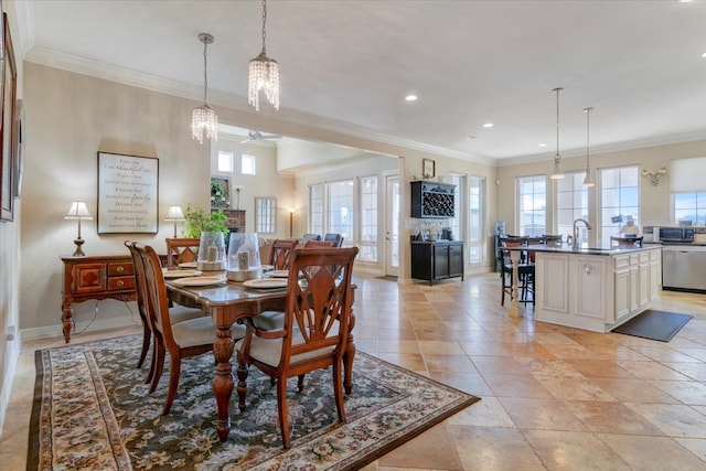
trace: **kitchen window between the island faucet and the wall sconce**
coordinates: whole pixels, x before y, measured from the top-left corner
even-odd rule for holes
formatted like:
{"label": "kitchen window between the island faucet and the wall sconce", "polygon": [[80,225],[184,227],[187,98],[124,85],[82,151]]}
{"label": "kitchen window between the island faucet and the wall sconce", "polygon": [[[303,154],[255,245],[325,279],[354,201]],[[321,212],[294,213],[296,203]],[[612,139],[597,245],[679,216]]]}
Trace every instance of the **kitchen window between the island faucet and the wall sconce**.
{"label": "kitchen window between the island faucet and the wall sconce", "polygon": [[640,226],[640,169],[638,167],[620,167],[600,171],[601,245],[610,246],[610,236],[620,235],[620,227],[628,215],[632,215],[635,225]]}

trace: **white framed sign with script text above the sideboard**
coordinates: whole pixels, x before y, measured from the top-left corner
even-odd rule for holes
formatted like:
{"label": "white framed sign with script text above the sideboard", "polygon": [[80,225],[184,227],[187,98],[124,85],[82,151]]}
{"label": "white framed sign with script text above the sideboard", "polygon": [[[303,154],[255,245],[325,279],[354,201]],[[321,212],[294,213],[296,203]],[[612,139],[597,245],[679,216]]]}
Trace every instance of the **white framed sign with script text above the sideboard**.
{"label": "white framed sign with script text above the sideboard", "polygon": [[159,159],[98,152],[98,234],[157,234]]}

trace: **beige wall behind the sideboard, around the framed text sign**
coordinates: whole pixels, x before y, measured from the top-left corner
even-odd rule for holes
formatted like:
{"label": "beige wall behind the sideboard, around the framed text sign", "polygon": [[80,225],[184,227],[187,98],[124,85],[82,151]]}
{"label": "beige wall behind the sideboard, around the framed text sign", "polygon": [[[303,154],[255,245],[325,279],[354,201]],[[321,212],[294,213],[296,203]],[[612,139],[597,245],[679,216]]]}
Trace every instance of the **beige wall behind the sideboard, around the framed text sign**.
{"label": "beige wall behind the sideboard, around the framed text sign", "polygon": [[[163,213],[172,204],[208,207],[211,171],[208,147],[191,138],[183,118],[192,101],[32,63],[25,64],[24,83],[20,319],[32,338],[60,331],[60,256],[73,253],[76,236],[76,224],[64,214],[73,200],[83,200],[96,216],[97,151],[159,158],[159,233],[98,235],[94,220],[82,229],[87,255],[127,253],[127,238],[163,251],[172,231]],[[75,304],[76,331],[92,322],[95,307]],[[139,323],[133,303],[109,300],[98,309],[96,325]]]}

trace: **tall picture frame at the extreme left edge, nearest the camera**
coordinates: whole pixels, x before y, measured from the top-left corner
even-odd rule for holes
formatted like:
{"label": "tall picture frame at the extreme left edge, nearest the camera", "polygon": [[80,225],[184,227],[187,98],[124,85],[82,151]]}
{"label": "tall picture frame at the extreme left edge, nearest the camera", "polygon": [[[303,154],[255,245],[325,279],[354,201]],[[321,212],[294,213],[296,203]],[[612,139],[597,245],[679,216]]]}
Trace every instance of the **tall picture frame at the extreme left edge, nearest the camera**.
{"label": "tall picture frame at the extreme left edge, nearest the camera", "polygon": [[0,180],[0,221],[12,221],[14,210],[15,193],[15,159],[17,147],[13,146],[13,124],[14,107],[17,101],[17,68],[14,64],[14,53],[12,51],[12,39],[8,26],[8,15],[2,13],[2,61],[0,62],[0,73],[2,77],[2,129],[0,129],[0,167],[2,175]]}

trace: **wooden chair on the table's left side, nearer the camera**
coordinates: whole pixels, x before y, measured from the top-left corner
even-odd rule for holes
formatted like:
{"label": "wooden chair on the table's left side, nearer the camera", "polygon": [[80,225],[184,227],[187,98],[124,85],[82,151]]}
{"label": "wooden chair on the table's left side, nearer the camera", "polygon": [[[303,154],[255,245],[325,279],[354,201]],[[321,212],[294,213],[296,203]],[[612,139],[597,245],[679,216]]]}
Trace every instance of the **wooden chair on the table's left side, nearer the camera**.
{"label": "wooden chair on the table's left side, nearer the camera", "polygon": [[[153,334],[158,339],[154,342],[158,352],[154,356],[154,375],[150,385],[150,393],[157,389],[159,379],[164,368],[164,356],[169,353],[171,360],[169,367],[169,389],[162,408],[162,415],[169,414],[181,375],[181,358],[201,355],[213,350],[216,336],[216,328],[211,317],[201,317],[172,324],[169,317],[169,299],[164,276],[157,251],[150,246],[132,244],[139,254],[145,267],[147,312],[153,327]],[[234,340],[245,336],[245,327],[233,325],[231,334]]]}

